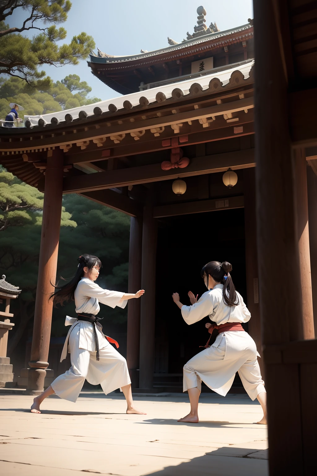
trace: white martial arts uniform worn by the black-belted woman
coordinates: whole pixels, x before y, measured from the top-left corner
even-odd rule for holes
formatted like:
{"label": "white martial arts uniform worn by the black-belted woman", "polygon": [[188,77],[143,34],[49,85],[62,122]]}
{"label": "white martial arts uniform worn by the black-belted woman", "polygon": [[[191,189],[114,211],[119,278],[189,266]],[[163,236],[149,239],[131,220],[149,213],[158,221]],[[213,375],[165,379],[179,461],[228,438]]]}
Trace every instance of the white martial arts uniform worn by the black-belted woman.
{"label": "white martial arts uniform worn by the black-belted woman", "polygon": [[[76,312],[96,316],[99,302],[124,308],[127,303],[126,299],[121,301],[124,294],[100,288],[91,279],[82,278],[75,290]],[[92,385],[100,384],[106,395],[131,383],[125,358],[109,344],[98,327],[100,360],[96,360],[95,324],[67,316],[65,326],[70,325],[60,361],[66,358],[68,348],[71,367],[51,384],[58,397],[76,402],[85,378]]]}

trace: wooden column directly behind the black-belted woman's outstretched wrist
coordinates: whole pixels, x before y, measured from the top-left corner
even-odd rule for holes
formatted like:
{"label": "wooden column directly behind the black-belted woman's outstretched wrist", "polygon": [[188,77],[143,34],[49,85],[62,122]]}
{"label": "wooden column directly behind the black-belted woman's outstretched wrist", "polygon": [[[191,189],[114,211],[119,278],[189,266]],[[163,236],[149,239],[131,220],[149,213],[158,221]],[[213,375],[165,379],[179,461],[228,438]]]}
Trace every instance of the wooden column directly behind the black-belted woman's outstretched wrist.
{"label": "wooden column directly behind the black-belted woman's outstretched wrist", "polygon": [[[131,217],[129,247],[129,283],[128,292],[135,293],[141,289],[142,266],[142,217]],[[132,381],[132,387],[139,386],[140,358],[140,312],[141,300],[130,299],[128,303],[128,324],[126,337],[126,360]]]}

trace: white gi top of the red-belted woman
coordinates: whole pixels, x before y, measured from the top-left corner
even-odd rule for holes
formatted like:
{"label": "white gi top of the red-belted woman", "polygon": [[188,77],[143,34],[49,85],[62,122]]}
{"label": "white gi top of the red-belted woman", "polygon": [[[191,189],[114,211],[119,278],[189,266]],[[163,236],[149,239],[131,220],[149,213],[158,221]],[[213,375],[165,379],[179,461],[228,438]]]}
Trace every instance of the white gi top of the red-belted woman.
{"label": "white gi top of the red-belted woman", "polygon": [[243,302],[242,296],[237,292],[240,304],[228,306],[223,302],[223,284],[216,284],[210,291],[206,291],[202,297],[192,306],[182,307],[182,316],[187,324],[193,324],[209,316],[210,320],[217,325],[226,322],[248,322],[251,314]]}

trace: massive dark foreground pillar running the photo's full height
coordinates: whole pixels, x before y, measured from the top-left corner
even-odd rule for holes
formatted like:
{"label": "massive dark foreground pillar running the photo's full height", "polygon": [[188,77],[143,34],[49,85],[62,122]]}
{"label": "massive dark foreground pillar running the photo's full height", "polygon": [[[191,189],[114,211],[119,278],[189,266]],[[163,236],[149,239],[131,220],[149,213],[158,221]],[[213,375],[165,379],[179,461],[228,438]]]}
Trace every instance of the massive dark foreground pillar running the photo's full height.
{"label": "massive dark foreground pillar running the photo's full height", "polygon": [[[253,7],[257,59],[255,151],[259,302],[268,392],[269,474],[300,476],[303,474],[303,444],[298,364],[283,362],[278,350],[279,346],[300,340],[304,335],[287,78],[279,50],[279,18],[273,1],[254,1]],[[287,12],[284,14],[282,21],[285,22],[288,21]]]}

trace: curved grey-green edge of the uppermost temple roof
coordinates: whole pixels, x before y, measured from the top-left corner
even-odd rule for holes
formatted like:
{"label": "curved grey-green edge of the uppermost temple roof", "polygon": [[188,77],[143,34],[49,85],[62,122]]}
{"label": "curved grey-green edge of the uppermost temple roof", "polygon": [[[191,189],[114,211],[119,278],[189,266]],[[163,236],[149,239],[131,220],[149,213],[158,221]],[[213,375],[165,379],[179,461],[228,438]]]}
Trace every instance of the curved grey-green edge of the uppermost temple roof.
{"label": "curved grey-green edge of the uppermost temple roof", "polygon": [[98,50],[98,55],[96,55],[94,52],[90,54],[90,62],[99,63],[99,64],[105,64],[105,63],[115,64],[115,63],[123,63],[123,62],[126,63],[129,61],[135,61],[135,60],[143,60],[143,59],[145,60],[146,58],[153,58],[155,56],[159,56],[165,53],[177,52],[189,46],[195,46],[207,41],[221,40],[222,37],[225,37],[231,34],[241,33],[244,31],[247,32],[247,30],[249,30],[250,28],[252,28],[252,23],[247,23],[245,25],[241,25],[240,27],[232,28],[230,30],[218,31],[216,33],[208,33],[208,30],[206,30],[206,33],[204,33],[202,36],[199,35],[195,38],[190,38],[189,40],[183,40],[183,42],[181,43],[176,43],[166,48],[162,48],[160,50],[146,51],[144,53],[139,53],[136,55],[111,56]]}

